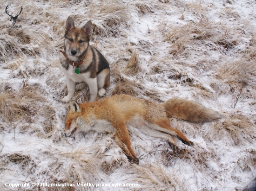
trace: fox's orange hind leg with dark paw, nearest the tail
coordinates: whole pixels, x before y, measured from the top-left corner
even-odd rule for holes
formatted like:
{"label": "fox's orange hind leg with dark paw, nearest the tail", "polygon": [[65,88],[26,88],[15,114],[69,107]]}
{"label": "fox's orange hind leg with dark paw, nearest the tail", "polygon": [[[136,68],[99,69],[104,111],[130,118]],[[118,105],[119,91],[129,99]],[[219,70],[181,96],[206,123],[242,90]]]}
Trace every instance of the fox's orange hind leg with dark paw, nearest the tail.
{"label": "fox's orange hind leg with dark paw, nearest the tail", "polygon": [[186,145],[189,145],[189,146],[194,145],[194,143],[192,141],[190,141],[184,134],[182,134],[181,131],[171,127],[167,120],[166,121],[165,120],[157,121],[157,122],[155,122],[155,124],[158,126],[158,127],[156,127],[157,130],[163,131],[168,134],[175,135],[179,140],[182,141],[182,143],[184,143]]}

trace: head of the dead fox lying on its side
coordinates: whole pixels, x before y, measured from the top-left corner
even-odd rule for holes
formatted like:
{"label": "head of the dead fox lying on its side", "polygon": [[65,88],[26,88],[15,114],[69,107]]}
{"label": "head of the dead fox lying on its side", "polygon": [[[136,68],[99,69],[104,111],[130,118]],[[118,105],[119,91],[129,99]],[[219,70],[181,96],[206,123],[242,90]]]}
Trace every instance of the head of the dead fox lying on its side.
{"label": "head of the dead fox lying on its side", "polygon": [[74,137],[75,134],[81,131],[82,123],[84,122],[81,120],[81,108],[77,102],[71,101],[65,121],[65,136]]}

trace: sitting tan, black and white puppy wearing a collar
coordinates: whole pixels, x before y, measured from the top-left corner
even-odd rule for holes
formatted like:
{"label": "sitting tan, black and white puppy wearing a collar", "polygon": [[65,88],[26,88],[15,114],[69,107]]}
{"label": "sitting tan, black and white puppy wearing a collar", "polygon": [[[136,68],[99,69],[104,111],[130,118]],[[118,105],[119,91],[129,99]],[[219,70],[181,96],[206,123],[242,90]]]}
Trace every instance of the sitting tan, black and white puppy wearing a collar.
{"label": "sitting tan, black and white puppy wearing a collar", "polygon": [[64,51],[60,51],[60,56],[61,70],[66,77],[68,94],[61,100],[62,102],[69,102],[75,88],[83,89],[86,84],[90,90],[89,102],[93,102],[97,94],[104,96],[110,85],[108,61],[101,52],[89,45],[92,27],[92,22],[88,21],[84,27],[75,28],[73,19],[67,18],[65,46]]}

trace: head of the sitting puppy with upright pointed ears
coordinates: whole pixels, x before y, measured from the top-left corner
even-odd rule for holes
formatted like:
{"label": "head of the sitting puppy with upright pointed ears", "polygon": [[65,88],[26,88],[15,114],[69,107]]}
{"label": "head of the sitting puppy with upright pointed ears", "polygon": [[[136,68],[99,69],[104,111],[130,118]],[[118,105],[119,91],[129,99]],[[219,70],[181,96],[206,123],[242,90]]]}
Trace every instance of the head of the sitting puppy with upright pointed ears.
{"label": "head of the sitting puppy with upright pointed ears", "polygon": [[76,61],[87,50],[92,27],[92,22],[88,21],[82,28],[75,28],[74,20],[67,18],[64,44],[67,57],[71,60]]}

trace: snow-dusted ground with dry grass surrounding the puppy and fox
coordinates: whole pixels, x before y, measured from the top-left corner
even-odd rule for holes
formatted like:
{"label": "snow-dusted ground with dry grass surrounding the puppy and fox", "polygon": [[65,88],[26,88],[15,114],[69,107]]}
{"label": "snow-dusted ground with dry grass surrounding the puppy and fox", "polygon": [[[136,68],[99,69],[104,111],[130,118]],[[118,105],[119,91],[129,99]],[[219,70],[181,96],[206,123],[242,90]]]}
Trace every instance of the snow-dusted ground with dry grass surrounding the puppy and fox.
{"label": "snow-dusted ground with dry grass surrounding the puppy and fox", "polygon": [[[7,28],[7,5],[14,14],[23,7],[15,24],[22,28]],[[0,190],[253,188],[255,0],[9,0],[1,1],[0,10]],[[170,119],[195,143],[190,147],[177,140],[178,153],[165,140],[129,127],[139,165],[129,164],[112,134],[65,137],[69,104],[60,102],[67,85],[59,50],[68,16],[76,27],[88,20],[94,24],[90,43],[111,68],[107,96],[129,94],[155,102],[185,97],[219,111],[223,119]],[[88,96],[86,88],[74,100],[85,102]],[[9,186],[18,183],[30,186]]]}

